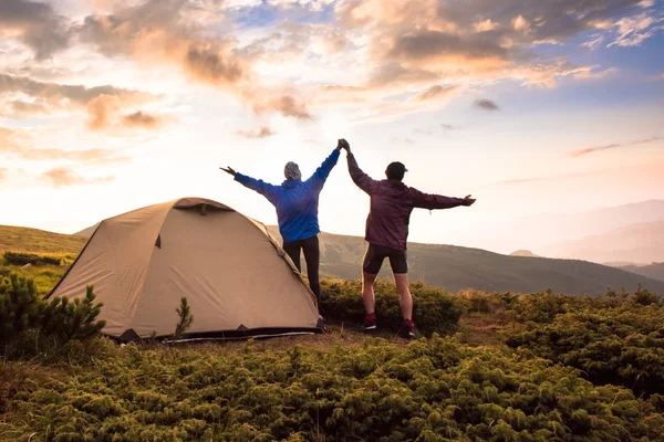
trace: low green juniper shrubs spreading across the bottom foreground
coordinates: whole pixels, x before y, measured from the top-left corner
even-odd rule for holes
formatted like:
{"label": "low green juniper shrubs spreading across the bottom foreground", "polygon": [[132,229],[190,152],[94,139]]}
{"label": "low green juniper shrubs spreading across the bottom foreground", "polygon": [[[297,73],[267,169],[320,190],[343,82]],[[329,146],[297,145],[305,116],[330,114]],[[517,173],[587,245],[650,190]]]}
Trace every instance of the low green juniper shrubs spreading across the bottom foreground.
{"label": "low green juniper shrubs spreading across the bottom foreground", "polygon": [[435,336],[407,346],[126,346],[14,389],[0,434],[98,441],[658,440],[658,401]]}

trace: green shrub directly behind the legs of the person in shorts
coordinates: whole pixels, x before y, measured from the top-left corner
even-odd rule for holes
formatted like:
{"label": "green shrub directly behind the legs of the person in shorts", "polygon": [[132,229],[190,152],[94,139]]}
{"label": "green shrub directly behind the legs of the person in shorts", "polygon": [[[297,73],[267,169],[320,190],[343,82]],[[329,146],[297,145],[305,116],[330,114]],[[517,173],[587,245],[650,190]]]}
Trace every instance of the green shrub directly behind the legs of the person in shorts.
{"label": "green shrub directly behind the legs of the person in shorts", "polygon": [[[360,281],[322,281],[321,309],[335,322],[361,324],[364,319],[362,283]],[[422,283],[411,284],[413,320],[425,336],[434,333],[452,334],[458,328],[461,302],[439,288]],[[403,323],[398,295],[394,284],[376,281],[375,313],[378,326],[396,332]]]}

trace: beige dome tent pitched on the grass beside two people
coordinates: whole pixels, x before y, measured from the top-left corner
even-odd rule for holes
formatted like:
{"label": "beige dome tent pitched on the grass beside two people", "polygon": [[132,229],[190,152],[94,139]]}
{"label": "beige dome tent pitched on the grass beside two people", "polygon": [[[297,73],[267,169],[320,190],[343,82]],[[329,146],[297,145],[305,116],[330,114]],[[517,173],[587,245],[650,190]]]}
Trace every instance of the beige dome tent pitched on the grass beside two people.
{"label": "beige dome tent pitched on the grass beside two people", "polygon": [[188,338],[320,332],[315,297],[266,227],[219,202],[184,198],[96,228],[48,295],[94,285],[103,333],[122,340],[170,336],[183,296]]}

